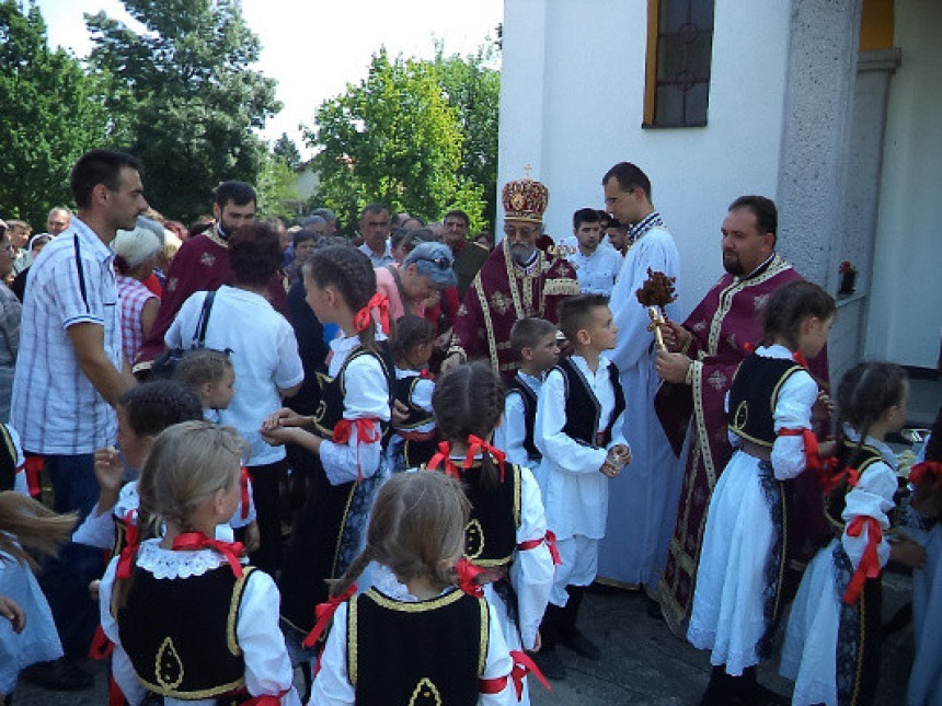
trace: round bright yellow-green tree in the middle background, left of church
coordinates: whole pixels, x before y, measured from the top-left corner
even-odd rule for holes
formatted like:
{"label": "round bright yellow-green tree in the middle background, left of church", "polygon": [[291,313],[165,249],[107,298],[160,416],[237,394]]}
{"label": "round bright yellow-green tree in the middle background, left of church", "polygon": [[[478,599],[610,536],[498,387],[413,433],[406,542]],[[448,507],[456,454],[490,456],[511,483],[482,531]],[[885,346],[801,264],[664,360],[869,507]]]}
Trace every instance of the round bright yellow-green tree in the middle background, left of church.
{"label": "round bright yellow-green tree in the middle background, left of church", "polygon": [[459,113],[448,104],[433,63],[390,60],[380,49],[367,78],[321,104],[315,121],[305,137],[319,150],[317,199],[343,222],[355,223],[370,201],[424,219],[459,207],[480,222],[482,189],[459,173]]}

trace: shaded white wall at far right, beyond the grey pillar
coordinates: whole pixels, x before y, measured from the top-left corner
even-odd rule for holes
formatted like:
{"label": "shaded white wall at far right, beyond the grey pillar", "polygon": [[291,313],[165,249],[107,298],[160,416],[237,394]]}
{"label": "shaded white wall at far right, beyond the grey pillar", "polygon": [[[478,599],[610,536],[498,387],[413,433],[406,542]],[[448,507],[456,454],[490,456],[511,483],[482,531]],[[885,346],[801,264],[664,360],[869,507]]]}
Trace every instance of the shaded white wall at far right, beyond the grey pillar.
{"label": "shaded white wall at far right, beyond the grey pillar", "polygon": [[942,331],[942,3],[896,3],[865,356],[935,368]]}

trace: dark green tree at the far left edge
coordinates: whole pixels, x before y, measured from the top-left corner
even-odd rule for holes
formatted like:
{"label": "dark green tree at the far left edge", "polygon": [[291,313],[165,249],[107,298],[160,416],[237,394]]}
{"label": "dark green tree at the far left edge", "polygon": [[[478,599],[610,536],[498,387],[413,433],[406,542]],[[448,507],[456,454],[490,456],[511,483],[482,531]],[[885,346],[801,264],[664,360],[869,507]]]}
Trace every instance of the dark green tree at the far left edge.
{"label": "dark green tree at the far left edge", "polygon": [[62,49],[50,50],[38,8],[0,1],[0,213],[37,231],[46,211],[70,204],[69,174],[81,154],[120,139],[104,86]]}

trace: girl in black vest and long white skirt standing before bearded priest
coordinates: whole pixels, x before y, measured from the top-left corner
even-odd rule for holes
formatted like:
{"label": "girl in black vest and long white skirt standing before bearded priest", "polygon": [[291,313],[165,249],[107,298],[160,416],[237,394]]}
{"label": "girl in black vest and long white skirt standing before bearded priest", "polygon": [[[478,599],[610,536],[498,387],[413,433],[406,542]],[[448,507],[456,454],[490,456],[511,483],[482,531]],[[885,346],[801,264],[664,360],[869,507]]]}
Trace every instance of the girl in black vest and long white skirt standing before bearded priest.
{"label": "girl in black vest and long white skirt standing before bearded priest", "polygon": [[726,402],[736,451],[710,500],[687,633],[694,647],[712,650],[702,704],[771,697],[756,683],[756,666],[788,566],[783,482],[817,451],[808,430],[818,386],[804,360],[824,348],[834,316],[834,299],[819,287],[785,285],[766,306],[766,345],[733,380]]}

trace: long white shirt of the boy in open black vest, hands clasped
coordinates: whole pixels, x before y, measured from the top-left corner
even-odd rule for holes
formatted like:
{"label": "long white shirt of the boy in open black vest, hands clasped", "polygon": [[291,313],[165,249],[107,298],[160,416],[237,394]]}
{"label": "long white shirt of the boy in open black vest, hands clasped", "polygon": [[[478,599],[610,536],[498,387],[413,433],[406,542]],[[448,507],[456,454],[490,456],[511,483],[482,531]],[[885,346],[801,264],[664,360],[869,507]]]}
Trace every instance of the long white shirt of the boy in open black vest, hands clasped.
{"label": "long white shirt of the boy in open black vest, hands clasped", "polygon": [[[582,356],[573,356],[572,361],[598,400],[600,414],[596,431],[602,431],[614,412],[614,391],[608,371],[612,363],[599,358],[598,369],[593,373]],[[605,536],[608,514],[609,478],[599,468],[608,449],[579,443],[563,432],[565,424],[565,381],[559,370],[551,370],[540,390],[533,427],[537,448],[543,454],[540,473],[547,482],[543,497],[547,524],[560,540],[577,534],[600,540]],[[622,427],[623,417],[616,419],[609,449],[625,443]],[[624,472],[631,473],[631,466]]]}

